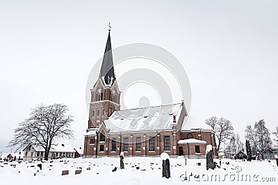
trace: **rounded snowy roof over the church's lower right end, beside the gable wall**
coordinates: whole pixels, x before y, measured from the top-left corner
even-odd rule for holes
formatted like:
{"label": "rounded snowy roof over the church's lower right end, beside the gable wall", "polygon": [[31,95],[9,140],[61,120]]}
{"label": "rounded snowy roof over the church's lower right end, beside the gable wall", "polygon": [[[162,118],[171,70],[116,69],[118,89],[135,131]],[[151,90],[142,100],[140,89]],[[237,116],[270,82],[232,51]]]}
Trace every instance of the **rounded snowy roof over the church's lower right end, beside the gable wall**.
{"label": "rounded snowy roof over the church's lower right end, beside the gable wall", "polygon": [[213,130],[210,125],[206,125],[204,120],[200,120],[197,116],[188,116],[183,120],[181,131],[192,130]]}

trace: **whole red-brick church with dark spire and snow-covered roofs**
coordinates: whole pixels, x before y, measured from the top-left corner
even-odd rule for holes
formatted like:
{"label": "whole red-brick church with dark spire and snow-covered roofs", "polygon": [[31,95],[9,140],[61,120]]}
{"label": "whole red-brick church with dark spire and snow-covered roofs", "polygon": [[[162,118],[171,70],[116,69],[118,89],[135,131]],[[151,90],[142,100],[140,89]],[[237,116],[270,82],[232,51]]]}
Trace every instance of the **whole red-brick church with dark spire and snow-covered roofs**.
{"label": "whole red-brick church with dark spire and snow-covered roofs", "polygon": [[120,109],[121,91],[113,67],[111,30],[104,51],[99,78],[90,89],[88,129],[83,157],[170,156],[202,158],[206,146],[213,146],[215,134],[204,121],[188,116],[186,103],[138,109]]}

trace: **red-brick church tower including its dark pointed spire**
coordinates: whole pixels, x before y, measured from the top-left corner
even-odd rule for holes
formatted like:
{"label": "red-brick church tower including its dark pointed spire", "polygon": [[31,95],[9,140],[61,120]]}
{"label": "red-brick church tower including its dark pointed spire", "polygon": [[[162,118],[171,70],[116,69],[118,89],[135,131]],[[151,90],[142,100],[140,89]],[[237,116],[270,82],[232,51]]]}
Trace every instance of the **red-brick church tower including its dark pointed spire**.
{"label": "red-brick church tower including its dark pointed spire", "polygon": [[120,90],[114,73],[110,26],[99,78],[91,91],[88,130],[101,125],[115,110],[120,110]]}

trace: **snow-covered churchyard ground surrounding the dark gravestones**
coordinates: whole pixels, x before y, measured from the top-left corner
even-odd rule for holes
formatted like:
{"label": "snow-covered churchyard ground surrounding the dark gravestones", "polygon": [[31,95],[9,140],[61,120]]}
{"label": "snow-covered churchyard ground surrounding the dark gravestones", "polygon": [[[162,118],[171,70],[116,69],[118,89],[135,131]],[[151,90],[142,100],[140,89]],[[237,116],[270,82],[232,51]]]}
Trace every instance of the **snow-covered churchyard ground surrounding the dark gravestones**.
{"label": "snow-covered churchyard ground surrounding the dark gravestones", "polygon": [[[219,159],[214,161],[219,164]],[[170,179],[162,177],[159,157],[125,157],[122,170],[119,168],[120,157],[56,159],[45,163],[1,162],[0,184],[277,184],[278,182],[275,160],[247,162],[222,159],[221,162],[220,168],[206,170],[206,159],[186,161],[183,158],[170,158]],[[197,163],[201,163],[201,166],[197,166]],[[38,170],[38,164],[42,164],[42,170]],[[117,170],[112,172],[115,167]],[[75,175],[75,171],[80,169],[81,174]],[[69,170],[69,175],[62,176],[63,170]]]}

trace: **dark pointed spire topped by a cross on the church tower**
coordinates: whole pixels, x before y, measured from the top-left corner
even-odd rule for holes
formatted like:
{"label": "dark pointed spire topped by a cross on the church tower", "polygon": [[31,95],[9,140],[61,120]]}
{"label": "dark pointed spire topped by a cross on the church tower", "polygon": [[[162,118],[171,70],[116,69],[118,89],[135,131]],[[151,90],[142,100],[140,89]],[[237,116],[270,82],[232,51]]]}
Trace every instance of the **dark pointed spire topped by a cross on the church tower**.
{"label": "dark pointed spire topped by a cross on the church tower", "polygon": [[108,38],[106,42],[106,47],[104,51],[104,59],[102,60],[101,70],[99,76],[101,76],[106,83],[106,85],[112,85],[115,80],[114,66],[113,66],[113,55],[111,46],[110,23],[108,25]]}

